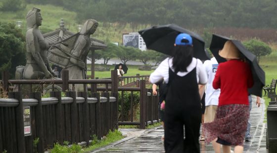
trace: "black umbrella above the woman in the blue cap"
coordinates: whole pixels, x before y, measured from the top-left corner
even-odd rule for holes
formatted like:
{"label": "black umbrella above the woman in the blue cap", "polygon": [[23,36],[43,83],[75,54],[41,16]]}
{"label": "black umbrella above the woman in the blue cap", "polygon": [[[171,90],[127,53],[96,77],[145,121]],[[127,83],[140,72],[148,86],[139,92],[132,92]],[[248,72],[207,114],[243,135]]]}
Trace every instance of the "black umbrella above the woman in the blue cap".
{"label": "black umbrella above the woman in the blue cap", "polygon": [[140,30],[147,49],[159,51],[168,55],[172,55],[175,38],[180,33],[189,34],[192,37],[193,56],[201,60],[210,59],[205,49],[204,40],[196,33],[179,27],[175,24],[154,26],[152,28]]}

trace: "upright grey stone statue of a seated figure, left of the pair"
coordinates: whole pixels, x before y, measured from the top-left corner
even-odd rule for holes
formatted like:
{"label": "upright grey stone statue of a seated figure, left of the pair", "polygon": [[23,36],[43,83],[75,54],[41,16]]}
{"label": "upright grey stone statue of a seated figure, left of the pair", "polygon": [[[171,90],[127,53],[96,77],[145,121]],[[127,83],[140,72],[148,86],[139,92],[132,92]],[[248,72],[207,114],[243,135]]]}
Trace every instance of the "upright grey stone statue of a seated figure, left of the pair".
{"label": "upright grey stone statue of a seated figure, left of the pair", "polygon": [[27,13],[26,32],[26,66],[23,71],[23,79],[50,79],[54,78],[48,59],[48,43],[45,41],[39,26],[42,25],[42,15],[39,8],[33,8]]}

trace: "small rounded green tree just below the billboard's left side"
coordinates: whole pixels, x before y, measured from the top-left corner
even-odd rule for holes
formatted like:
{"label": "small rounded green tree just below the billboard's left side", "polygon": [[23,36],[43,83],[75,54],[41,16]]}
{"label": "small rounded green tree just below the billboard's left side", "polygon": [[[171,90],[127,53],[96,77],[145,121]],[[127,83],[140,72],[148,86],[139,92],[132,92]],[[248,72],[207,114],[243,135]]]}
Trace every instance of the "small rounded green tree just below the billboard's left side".
{"label": "small rounded green tree just below the billboard's left side", "polygon": [[126,64],[129,60],[137,59],[139,53],[139,49],[133,47],[119,46],[119,50],[117,50],[116,56],[123,62],[123,64]]}

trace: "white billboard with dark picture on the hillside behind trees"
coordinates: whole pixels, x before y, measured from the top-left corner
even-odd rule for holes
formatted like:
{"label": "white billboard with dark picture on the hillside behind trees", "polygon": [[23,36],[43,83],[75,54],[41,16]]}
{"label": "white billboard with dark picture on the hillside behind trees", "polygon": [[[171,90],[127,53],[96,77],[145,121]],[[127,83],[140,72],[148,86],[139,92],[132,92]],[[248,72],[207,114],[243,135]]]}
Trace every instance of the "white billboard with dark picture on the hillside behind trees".
{"label": "white billboard with dark picture on the hillside behind trees", "polygon": [[146,45],[139,33],[123,34],[123,46],[139,48],[141,51],[146,51]]}

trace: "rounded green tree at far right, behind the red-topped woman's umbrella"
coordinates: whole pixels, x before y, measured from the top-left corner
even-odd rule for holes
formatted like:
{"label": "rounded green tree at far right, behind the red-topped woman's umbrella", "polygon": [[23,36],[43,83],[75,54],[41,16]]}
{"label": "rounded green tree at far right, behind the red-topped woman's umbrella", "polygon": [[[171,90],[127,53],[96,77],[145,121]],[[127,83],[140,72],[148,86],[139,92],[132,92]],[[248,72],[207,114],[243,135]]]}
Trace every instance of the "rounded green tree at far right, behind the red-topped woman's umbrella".
{"label": "rounded green tree at far right, behind the red-topped woman's umbrella", "polygon": [[272,49],[266,43],[258,39],[251,39],[243,42],[243,45],[248,51],[251,51],[257,56],[258,62],[261,56],[269,55],[272,52]]}

